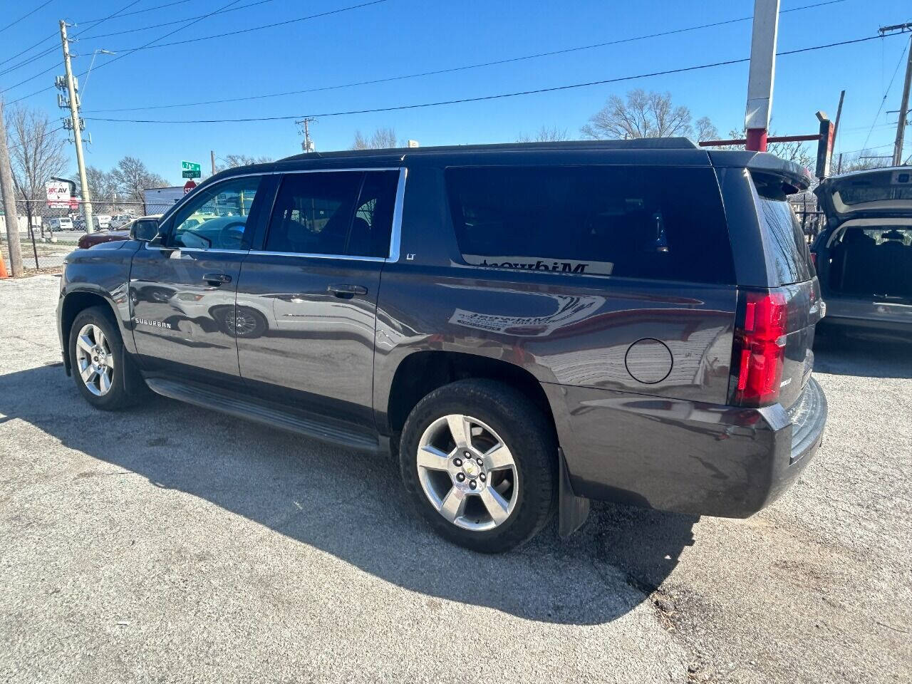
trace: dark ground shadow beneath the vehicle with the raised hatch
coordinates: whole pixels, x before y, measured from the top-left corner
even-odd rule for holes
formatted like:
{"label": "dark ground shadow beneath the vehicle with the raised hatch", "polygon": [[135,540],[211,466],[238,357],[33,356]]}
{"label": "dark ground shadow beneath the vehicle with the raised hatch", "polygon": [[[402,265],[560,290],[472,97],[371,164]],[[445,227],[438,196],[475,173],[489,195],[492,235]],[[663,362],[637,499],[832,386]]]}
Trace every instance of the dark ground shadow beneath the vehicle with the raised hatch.
{"label": "dark ground shadow beneath the vehicle with the raised hatch", "polygon": [[896,338],[818,331],[814,370],[864,378],[912,378],[912,344]]}

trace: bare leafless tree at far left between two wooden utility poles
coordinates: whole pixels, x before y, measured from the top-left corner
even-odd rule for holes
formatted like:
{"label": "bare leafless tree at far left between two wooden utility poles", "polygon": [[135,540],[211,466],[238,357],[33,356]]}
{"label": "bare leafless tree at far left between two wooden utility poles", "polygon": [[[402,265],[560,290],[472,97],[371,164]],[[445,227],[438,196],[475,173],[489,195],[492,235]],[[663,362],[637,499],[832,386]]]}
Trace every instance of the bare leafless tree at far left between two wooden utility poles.
{"label": "bare leafless tree at far left between two wooden utility poles", "polygon": [[[46,198],[45,185],[67,167],[64,140],[51,128],[47,114],[37,109],[15,107],[7,113],[6,128],[11,132],[10,162],[16,192],[26,205],[28,230],[33,226],[37,202]],[[37,202],[36,202],[37,201]],[[41,226],[44,237],[45,227]]]}

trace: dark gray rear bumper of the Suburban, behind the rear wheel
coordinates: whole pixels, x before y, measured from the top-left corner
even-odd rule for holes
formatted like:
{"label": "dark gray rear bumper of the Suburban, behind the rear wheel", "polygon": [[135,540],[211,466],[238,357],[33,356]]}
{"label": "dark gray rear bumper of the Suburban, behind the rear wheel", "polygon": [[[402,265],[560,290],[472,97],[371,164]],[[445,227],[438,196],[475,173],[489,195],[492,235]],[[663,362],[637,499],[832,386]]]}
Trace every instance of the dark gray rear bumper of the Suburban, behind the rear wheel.
{"label": "dark gray rear bumper of the Suburban, behind the rear wheel", "polygon": [[814,378],[788,411],[544,389],[577,496],[697,515],[742,518],[772,503],[819,448],[827,413]]}

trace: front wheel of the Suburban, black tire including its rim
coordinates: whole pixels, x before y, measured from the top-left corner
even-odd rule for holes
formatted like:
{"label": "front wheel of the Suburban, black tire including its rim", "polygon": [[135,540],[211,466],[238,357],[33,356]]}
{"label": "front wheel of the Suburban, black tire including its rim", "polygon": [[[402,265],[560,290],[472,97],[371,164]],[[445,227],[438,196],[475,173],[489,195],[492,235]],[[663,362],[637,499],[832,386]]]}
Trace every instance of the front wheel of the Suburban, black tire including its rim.
{"label": "front wheel of the Suburban, black tire including its rim", "polygon": [[[88,330],[87,330],[88,328]],[[98,337],[100,331],[102,337]],[[105,354],[99,355],[103,365],[101,372],[98,367],[93,367],[92,372],[84,374],[85,360],[94,360],[94,353],[89,354],[88,349],[80,347],[80,333],[88,337],[89,346],[95,350],[99,348]],[[84,340],[87,341],[87,340]],[[141,388],[144,386],[139,373],[133,366],[133,361],[123,348],[120,331],[114,316],[102,306],[91,306],[80,311],[69,329],[69,359],[73,368],[73,378],[79,393],[96,409],[119,410],[125,409],[136,403],[141,398],[141,392],[130,391],[126,377],[131,376],[130,387]],[[89,354],[80,353],[80,349]],[[104,378],[102,378],[102,375]],[[84,376],[90,376],[87,382]],[[90,389],[91,386],[94,389]]]}

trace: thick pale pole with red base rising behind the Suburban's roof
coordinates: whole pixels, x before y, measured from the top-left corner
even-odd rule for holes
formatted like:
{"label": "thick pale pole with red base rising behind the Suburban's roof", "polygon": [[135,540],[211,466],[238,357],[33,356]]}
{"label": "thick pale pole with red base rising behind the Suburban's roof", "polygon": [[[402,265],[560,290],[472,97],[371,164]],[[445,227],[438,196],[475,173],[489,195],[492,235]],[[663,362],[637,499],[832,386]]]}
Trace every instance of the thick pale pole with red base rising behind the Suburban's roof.
{"label": "thick pale pole with red base rising behind the Suburban's roof", "polygon": [[747,80],[747,150],[766,151],[772,109],[772,84],[776,73],[776,36],[779,0],[754,0],[751,34],[751,70]]}

